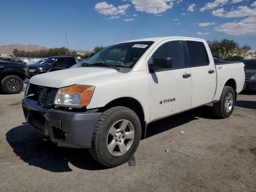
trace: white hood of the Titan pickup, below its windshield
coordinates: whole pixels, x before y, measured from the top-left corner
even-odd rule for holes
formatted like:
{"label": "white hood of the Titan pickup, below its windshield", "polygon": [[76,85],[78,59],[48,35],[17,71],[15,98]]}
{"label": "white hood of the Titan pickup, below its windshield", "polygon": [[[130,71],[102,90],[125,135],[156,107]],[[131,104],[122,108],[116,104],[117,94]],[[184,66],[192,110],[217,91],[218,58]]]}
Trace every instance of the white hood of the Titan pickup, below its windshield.
{"label": "white hood of the Titan pickup, below its windshield", "polygon": [[78,67],[39,74],[33,76],[29,82],[40,86],[61,88],[118,74],[122,73],[109,68]]}

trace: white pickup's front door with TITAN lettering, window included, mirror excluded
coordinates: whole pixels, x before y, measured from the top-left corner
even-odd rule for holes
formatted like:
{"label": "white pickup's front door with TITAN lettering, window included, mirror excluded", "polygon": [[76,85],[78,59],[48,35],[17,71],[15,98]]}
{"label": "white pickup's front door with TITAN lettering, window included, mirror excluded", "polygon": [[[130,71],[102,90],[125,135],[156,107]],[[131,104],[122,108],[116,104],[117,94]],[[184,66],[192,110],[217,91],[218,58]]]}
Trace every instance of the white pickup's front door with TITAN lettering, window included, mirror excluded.
{"label": "white pickup's front door with TITAN lettering, window included, mirror excluded", "polygon": [[192,80],[191,70],[185,67],[182,38],[160,42],[148,55],[154,58],[172,58],[172,67],[148,73],[150,85],[150,120],[154,121],[190,109]]}

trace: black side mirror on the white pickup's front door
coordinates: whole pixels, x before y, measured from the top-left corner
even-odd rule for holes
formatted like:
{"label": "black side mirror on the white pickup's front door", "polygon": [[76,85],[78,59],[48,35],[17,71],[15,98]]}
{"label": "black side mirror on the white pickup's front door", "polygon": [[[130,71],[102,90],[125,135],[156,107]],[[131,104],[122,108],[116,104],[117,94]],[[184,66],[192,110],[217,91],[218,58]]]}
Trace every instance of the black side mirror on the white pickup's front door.
{"label": "black side mirror on the white pickup's front door", "polygon": [[149,64],[148,67],[151,72],[159,69],[170,69],[172,68],[172,58],[170,57],[154,58],[153,64]]}

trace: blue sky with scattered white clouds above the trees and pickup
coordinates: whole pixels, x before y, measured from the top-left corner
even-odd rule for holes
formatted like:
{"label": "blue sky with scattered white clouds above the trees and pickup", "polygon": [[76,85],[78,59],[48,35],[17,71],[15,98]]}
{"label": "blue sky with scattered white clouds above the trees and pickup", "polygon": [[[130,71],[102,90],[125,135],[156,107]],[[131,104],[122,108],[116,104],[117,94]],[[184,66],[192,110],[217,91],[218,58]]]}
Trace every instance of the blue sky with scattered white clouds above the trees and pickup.
{"label": "blue sky with scattered white clouds above the trees and pickup", "polygon": [[93,50],[125,40],[228,38],[256,50],[255,0],[8,0],[1,2],[0,45]]}

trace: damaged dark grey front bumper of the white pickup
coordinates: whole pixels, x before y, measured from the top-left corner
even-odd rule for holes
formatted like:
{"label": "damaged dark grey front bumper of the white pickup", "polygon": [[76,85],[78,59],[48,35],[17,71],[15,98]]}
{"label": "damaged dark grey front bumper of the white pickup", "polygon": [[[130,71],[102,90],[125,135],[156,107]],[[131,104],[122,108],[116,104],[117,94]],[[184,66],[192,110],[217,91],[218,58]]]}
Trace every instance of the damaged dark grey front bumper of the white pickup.
{"label": "damaged dark grey front bumper of the white pickup", "polygon": [[58,146],[90,148],[95,126],[102,113],[70,112],[37,105],[30,97],[22,100],[28,124]]}

